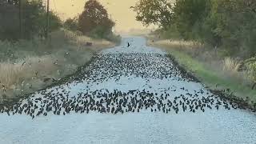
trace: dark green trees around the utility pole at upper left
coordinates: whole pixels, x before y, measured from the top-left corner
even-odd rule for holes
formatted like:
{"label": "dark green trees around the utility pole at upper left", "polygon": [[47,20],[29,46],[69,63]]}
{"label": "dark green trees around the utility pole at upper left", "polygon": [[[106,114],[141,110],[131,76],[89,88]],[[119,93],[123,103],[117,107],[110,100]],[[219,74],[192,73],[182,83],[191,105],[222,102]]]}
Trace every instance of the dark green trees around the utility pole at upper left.
{"label": "dark green trees around the utility pole at upper left", "polygon": [[[33,38],[35,35],[43,37],[46,32],[46,8],[42,0],[22,1],[22,35],[19,27],[18,1],[0,3],[0,38],[18,39]],[[62,26],[58,16],[52,12],[49,14],[50,30],[57,30]]]}

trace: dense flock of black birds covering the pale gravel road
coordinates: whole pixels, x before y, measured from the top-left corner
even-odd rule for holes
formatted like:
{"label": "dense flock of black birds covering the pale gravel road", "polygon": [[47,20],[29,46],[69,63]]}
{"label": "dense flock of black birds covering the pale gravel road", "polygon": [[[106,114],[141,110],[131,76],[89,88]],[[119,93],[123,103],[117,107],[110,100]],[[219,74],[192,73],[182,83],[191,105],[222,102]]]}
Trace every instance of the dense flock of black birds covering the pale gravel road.
{"label": "dense flock of black birds covering the pale gravel road", "polygon": [[[237,104],[211,94],[179,70],[166,54],[124,52],[145,49],[133,46],[132,42],[129,45],[96,54],[90,64],[69,81],[40,90],[14,105],[1,106],[0,113],[27,114],[35,118],[90,112],[124,114],[150,110],[178,114],[237,109]],[[136,79],[138,81],[133,81]]]}

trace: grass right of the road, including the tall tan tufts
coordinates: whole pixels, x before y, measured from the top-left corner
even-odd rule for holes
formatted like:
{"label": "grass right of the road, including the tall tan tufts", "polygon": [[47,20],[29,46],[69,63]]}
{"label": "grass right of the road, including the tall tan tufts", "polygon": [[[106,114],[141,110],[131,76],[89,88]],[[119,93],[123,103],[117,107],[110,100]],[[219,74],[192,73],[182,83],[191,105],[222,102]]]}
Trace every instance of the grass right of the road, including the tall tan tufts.
{"label": "grass right of the road, including the tall tan tufts", "polygon": [[149,41],[150,46],[166,50],[176,58],[178,63],[193,73],[202,83],[212,90],[230,89],[234,95],[256,102],[256,90],[251,90],[251,82],[246,72],[238,72],[239,62],[234,58],[216,60],[214,55],[204,50],[198,42],[177,42],[169,40]]}

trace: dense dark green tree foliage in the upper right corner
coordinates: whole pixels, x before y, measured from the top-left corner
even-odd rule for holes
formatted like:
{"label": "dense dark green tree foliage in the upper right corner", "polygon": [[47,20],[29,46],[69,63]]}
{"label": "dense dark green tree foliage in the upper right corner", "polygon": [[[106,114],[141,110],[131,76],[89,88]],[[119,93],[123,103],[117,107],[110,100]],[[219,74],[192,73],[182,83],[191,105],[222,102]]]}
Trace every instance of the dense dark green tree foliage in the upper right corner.
{"label": "dense dark green tree foliage in the upper right corner", "polygon": [[203,23],[204,30],[209,32],[212,38],[205,41],[216,42],[217,46],[226,49],[229,54],[245,53],[252,56],[256,44],[255,16],[242,0],[212,1],[210,14]]}

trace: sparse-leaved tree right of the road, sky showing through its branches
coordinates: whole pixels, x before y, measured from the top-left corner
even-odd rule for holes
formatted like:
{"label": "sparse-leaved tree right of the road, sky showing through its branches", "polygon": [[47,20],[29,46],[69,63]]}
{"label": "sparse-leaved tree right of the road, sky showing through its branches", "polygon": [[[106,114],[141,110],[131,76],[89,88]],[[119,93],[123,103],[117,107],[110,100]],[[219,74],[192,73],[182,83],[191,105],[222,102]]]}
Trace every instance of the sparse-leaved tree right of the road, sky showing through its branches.
{"label": "sparse-leaved tree right of the road, sky showing through its branches", "polygon": [[172,0],[140,0],[134,11],[137,13],[136,19],[144,26],[154,24],[167,29],[171,24],[173,7]]}

